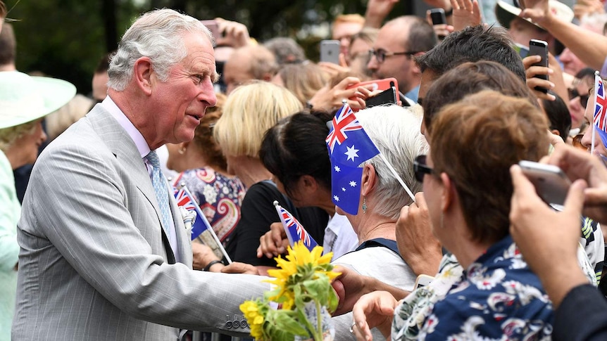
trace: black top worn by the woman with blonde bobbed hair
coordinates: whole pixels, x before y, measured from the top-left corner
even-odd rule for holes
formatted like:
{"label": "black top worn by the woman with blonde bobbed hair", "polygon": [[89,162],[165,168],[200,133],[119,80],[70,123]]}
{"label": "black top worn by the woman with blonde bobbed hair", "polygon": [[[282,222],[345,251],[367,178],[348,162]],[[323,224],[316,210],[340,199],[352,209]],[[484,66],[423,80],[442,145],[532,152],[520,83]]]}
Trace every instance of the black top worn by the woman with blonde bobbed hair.
{"label": "black top worn by the woman with blonde bobbed hair", "polygon": [[295,208],[291,200],[278,191],[275,184],[261,181],[246,190],[240,207],[240,221],[230,236],[232,240],[225,247],[234,262],[276,266],[274,259],[265,256],[257,258],[259,238],[270,231],[270,224],[280,222],[274,200],[293,214],[318,245],[323,244],[329,214],[318,207]]}

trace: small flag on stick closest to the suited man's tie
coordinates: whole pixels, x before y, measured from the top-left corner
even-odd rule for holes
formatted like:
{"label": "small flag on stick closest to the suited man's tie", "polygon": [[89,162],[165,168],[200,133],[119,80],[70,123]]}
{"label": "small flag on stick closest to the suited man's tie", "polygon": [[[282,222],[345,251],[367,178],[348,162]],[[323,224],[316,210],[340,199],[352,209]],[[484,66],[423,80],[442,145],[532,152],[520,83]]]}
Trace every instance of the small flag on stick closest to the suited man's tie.
{"label": "small flag on stick closest to the suited man's tie", "polygon": [[213,252],[217,257],[225,258],[228,264],[232,263],[232,259],[227,255],[225,248],[221,245],[211,224],[208,224],[208,220],[204,216],[204,213],[202,213],[200,207],[196,205],[196,200],[194,200],[192,193],[189,193],[187,186],[181,184],[180,188],[173,187],[173,194],[175,195],[175,200],[177,200],[177,206],[184,207],[184,209],[188,211],[196,212],[197,217],[192,223],[192,240],[200,238],[204,245],[213,249]]}

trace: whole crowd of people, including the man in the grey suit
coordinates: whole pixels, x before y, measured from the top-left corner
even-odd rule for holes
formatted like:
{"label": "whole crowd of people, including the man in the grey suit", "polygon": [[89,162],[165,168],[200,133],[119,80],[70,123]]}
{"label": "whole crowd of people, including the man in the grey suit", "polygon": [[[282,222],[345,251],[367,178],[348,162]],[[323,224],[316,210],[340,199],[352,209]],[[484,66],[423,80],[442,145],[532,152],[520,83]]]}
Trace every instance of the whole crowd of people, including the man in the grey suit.
{"label": "whole crowd of people, including the man in the grey suit", "polygon": [[[289,245],[274,202],[341,272],[334,340],[603,340],[606,9],[426,0],[432,25],[386,20],[397,2],[337,16],[339,63],[150,11],[84,96],[17,70],[0,1],[0,341],[247,337],[231,320]],[[367,107],[387,78],[393,103]],[[344,105],[380,153],[358,162],[354,212],[325,141]],[[562,169],[562,205],[523,160]],[[228,257],[192,238],[181,186]]]}

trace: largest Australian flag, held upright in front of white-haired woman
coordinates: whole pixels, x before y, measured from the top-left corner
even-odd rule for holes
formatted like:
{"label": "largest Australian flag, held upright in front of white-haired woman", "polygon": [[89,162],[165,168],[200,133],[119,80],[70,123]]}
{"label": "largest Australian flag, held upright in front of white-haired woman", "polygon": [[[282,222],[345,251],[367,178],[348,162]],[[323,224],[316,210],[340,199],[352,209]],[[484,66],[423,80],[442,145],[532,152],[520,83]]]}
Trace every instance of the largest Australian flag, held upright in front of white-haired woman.
{"label": "largest Australian flag, held upright in front of white-haired woman", "polygon": [[333,117],[332,127],[325,141],[331,159],[333,203],[344,212],[358,214],[363,174],[363,169],[358,165],[379,154],[380,151],[369,139],[347,104]]}

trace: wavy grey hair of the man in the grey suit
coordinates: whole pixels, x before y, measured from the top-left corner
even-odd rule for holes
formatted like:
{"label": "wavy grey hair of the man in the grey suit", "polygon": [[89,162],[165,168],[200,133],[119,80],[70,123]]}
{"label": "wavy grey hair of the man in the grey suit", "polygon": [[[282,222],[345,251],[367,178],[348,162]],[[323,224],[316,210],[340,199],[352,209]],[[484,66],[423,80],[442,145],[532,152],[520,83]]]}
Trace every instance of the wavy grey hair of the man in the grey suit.
{"label": "wavy grey hair of the man in the grey suit", "polygon": [[182,39],[184,32],[206,34],[213,43],[211,31],[189,15],[165,8],[139,17],[125,32],[112,57],[108,87],[123,91],[133,76],[135,61],[142,57],[150,58],[158,79],[166,82],[170,67],[187,55]]}

